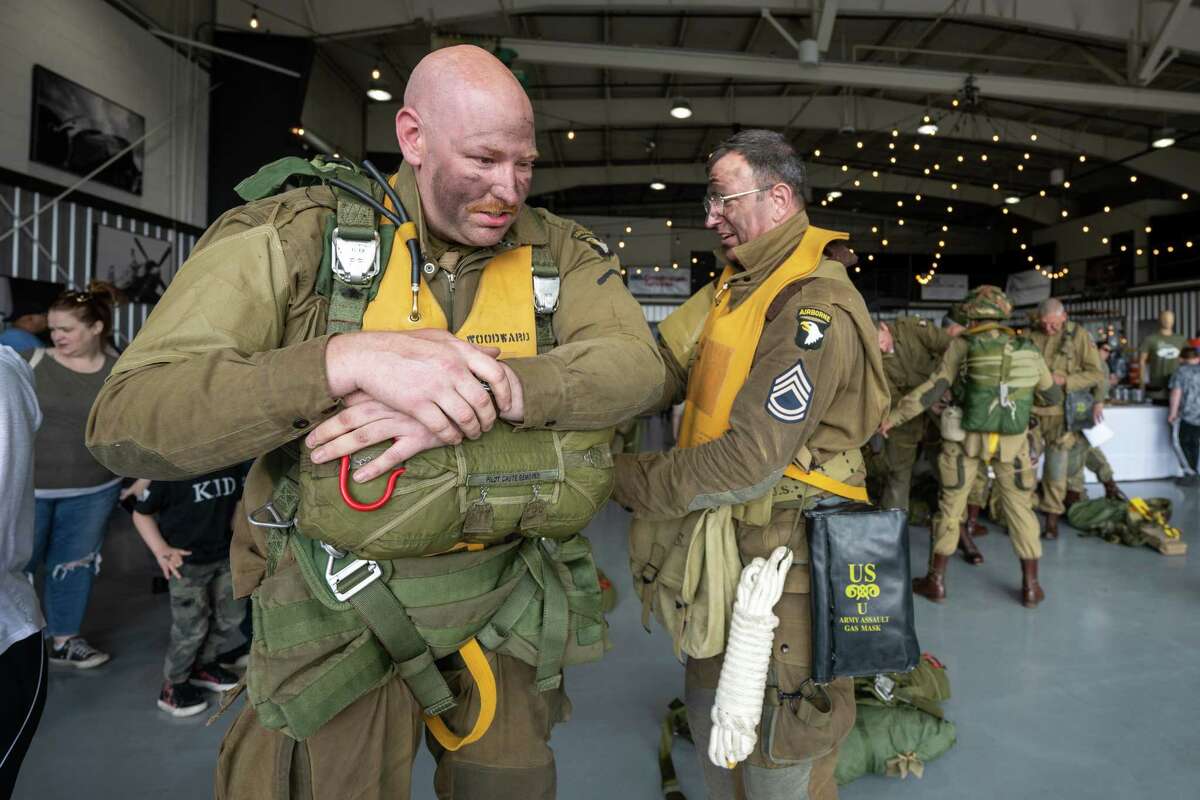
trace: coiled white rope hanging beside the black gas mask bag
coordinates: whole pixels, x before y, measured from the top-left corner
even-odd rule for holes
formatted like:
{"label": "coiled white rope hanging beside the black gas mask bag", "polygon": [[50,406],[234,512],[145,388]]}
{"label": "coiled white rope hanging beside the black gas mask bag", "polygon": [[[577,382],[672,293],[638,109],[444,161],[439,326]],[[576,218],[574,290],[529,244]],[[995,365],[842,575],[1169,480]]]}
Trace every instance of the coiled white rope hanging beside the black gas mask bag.
{"label": "coiled white rope hanging beside the black gas mask bag", "polygon": [[738,581],[708,739],[708,758],[718,766],[733,769],[750,756],[758,740],[756,730],[779,626],[772,609],[784,594],[791,566],[792,551],[776,547],[769,559],[746,565]]}

